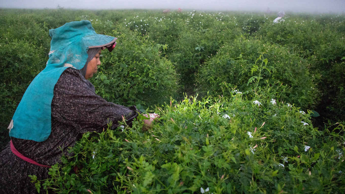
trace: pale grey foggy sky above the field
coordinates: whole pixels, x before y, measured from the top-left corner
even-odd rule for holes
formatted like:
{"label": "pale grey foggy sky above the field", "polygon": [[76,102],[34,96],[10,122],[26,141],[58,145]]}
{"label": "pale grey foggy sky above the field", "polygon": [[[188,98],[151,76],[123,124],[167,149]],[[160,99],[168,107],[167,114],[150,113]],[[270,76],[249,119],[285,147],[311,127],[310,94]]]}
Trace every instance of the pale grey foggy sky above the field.
{"label": "pale grey foggy sky above the field", "polygon": [[171,9],[345,13],[345,0],[0,0],[0,8]]}

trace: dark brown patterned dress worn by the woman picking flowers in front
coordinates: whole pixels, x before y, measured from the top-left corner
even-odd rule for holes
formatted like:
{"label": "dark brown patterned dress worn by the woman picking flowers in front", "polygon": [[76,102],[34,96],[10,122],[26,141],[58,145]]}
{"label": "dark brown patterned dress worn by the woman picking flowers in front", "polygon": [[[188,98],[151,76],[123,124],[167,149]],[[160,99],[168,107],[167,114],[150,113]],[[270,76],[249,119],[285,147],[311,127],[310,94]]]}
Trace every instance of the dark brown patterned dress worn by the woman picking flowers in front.
{"label": "dark brown patterned dress worn by the woman picking flowers in front", "polygon": [[[101,132],[109,121],[114,129],[118,121],[122,121],[122,115],[127,124],[131,124],[138,112],[135,106],[127,108],[105,101],[86,86],[76,70],[68,68],[54,88],[48,139],[36,142],[12,137],[12,142],[24,156],[40,164],[54,165],[60,162],[62,154],[71,155],[68,147],[73,146],[83,133]],[[38,180],[49,178],[48,168],[20,159],[11,152],[9,143],[0,153],[0,173],[0,193],[36,193],[28,175],[36,175]]]}

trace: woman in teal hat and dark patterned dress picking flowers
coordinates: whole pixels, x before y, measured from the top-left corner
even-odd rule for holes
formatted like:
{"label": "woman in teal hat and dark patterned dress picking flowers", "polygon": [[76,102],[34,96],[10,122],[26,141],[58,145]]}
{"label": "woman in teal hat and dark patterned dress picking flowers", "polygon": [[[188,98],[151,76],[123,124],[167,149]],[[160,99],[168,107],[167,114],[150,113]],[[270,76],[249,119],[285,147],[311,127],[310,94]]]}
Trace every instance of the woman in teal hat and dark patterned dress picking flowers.
{"label": "woman in teal hat and dark patterned dress picking flowers", "polygon": [[[31,82],[9,125],[10,143],[0,153],[0,193],[35,193],[28,175],[49,178],[48,169],[70,155],[81,135],[101,132],[112,122],[128,125],[138,116],[129,108],[106,102],[88,81],[101,64],[104,49],[116,46],[114,37],[97,34],[89,21],[76,21],[49,30],[52,38],[46,68]],[[146,126],[159,117],[145,115]]]}

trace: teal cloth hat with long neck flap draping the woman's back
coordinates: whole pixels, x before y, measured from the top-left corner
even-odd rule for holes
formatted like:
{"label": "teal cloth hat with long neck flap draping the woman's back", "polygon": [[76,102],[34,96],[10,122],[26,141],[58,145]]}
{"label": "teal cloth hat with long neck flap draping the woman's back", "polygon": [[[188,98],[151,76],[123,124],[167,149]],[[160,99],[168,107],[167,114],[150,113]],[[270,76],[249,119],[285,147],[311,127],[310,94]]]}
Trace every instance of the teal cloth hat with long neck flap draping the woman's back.
{"label": "teal cloth hat with long neck flap draping the woman's back", "polygon": [[45,141],[51,133],[51,101],[61,73],[67,68],[80,70],[91,48],[116,44],[115,37],[97,34],[89,21],[75,21],[49,30],[49,60],[31,82],[14,112],[9,126],[11,137]]}

